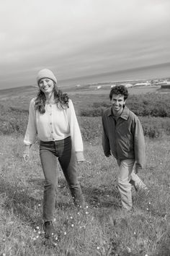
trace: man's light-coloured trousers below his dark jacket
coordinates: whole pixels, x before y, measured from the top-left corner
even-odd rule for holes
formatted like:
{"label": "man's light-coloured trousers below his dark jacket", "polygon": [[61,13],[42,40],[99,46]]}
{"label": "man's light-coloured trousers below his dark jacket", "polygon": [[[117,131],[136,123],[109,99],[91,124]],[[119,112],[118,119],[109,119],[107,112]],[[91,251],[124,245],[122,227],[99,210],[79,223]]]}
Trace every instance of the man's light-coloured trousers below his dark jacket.
{"label": "man's light-coloured trousers below his dark jacket", "polygon": [[138,189],[144,189],[146,185],[141,181],[139,176],[133,171],[135,164],[134,159],[126,159],[119,161],[118,170],[118,189],[120,191],[122,208],[130,210],[132,208],[132,194],[131,194],[131,182],[135,184]]}

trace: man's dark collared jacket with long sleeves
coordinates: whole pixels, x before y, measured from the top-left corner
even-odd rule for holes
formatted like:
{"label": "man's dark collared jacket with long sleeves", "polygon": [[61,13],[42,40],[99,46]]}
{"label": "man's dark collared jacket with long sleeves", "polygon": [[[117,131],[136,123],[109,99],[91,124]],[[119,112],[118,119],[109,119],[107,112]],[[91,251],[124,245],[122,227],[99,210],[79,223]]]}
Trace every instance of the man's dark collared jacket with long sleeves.
{"label": "man's dark collared jacket with long sleeves", "polygon": [[127,106],[115,120],[112,106],[102,116],[102,146],[104,155],[110,153],[117,160],[135,159],[136,166],[145,164],[145,140],[143,128],[135,114]]}

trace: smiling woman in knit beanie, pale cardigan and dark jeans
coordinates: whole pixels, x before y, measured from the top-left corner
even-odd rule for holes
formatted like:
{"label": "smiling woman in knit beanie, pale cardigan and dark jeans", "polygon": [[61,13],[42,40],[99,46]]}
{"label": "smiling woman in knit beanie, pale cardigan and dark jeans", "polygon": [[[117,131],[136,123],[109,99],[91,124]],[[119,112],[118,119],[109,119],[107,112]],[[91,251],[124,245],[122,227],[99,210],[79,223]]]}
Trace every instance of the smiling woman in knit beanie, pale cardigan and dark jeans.
{"label": "smiling woman in knit beanie, pale cardigan and dark jeans", "polygon": [[58,90],[57,79],[49,69],[37,74],[39,92],[30,101],[27,131],[24,136],[24,160],[30,156],[35,137],[40,140],[40,160],[45,176],[42,217],[45,237],[55,233],[53,226],[57,171],[56,158],[68,182],[75,205],[84,203],[76,174],[76,161],[84,161],[83,142],[71,99]]}

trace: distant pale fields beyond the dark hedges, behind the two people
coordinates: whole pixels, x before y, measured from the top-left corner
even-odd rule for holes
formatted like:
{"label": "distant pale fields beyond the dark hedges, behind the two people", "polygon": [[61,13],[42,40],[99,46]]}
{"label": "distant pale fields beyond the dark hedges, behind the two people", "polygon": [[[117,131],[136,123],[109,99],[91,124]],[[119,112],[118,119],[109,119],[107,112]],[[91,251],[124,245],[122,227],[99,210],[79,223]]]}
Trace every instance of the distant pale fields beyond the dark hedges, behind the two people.
{"label": "distant pale fields beyond the dark hedges, behind the two people", "polygon": [[[109,86],[105,86],[100,90],[97,90],[95,87],[90,88],[89,86],[82,88],[65,87],[61,89],[63,89],[63,92],[70,95],[74,105],[77,106],[77,110],[79,110],[79,108],[89,107],[94,102],[109,101]],[[35,97],[37,90],[38,89],[33,86],[0,90],[0,103],[8,107],[12,106],[15,108],[28,109],[30,100]],[[155,93],[158,87],[129,88],[128,90],[130,94],[138,95],[143,93]]]}

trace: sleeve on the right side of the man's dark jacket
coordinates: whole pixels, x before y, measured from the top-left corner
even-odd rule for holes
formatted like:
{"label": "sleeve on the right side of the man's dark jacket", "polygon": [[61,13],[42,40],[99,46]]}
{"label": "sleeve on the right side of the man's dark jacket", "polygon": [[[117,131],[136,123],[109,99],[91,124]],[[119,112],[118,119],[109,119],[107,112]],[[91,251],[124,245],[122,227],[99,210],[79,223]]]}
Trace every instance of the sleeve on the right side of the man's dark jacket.
{"label": "sleeve on the right side of the man's dark jacket", "polygon": [[135,119],[134,132],[135,168],[143,168],[146,163],[145,139],[143,127],[138,118]]}

